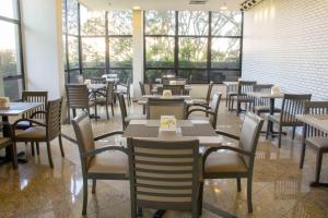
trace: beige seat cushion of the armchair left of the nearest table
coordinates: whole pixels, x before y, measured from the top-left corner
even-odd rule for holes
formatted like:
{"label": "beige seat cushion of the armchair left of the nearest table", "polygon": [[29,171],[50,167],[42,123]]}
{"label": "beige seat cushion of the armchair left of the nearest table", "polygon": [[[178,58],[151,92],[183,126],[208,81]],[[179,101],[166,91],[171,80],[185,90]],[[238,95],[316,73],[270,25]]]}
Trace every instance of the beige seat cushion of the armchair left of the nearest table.
{"label": "beige seat cushion of the armchair left of the nearest table", "polygon": [[109,150],[94,156],[89,164],[87,173],[110,173],[128,177],[128,156],[118,150]]}

